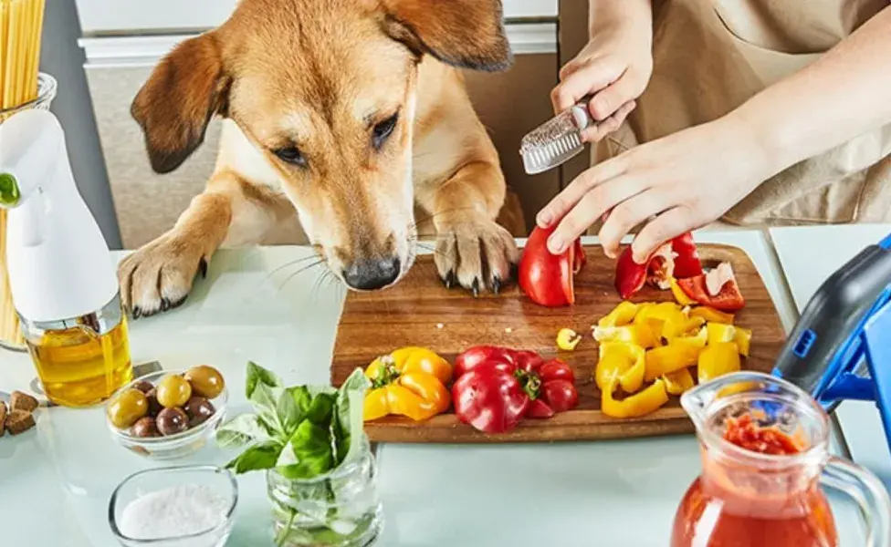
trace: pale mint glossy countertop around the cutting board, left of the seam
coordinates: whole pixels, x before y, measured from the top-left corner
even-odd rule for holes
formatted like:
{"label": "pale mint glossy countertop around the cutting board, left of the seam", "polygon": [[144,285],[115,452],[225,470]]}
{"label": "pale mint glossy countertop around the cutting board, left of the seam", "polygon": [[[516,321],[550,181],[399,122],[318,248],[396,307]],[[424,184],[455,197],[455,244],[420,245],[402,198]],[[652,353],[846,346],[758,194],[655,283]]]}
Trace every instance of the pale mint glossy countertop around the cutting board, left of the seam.
{"label": "pale mint glossy countertop around the cutting board, left of the seam", "polygon": [[[783,322],[794,310],[761,232],[703,232],[752,257]],[[591,242],[593,243],[593,241]],[[230,408],[245,409],[248,359],[287,382],[325,383],[343,289],[316,284],[320,270],[288,279],[294,247],[223,251],[189,303],[134,322],[135,363],[198,363],[228,380]],[[296,266],[299,267],[299,266]],[[27,388],[26,356],[0,353],[0,389]],[[205,448],[176,463],[222,464]],[[690,481],[700,470],[692,436],[498,446],[385,445],[379,451],[385,529],[378,546],[628,545],[664,547]],[[113,444],[102,408],[41,409],[37,428],[0,439],[0,531],[4,544],[111,547],[111,490],[136,470],[169,465]],[[270,544],[262,473],[239,480],[236,531],[228,543]],[[863,544],[857,513],[833,502],[844,546]]]}

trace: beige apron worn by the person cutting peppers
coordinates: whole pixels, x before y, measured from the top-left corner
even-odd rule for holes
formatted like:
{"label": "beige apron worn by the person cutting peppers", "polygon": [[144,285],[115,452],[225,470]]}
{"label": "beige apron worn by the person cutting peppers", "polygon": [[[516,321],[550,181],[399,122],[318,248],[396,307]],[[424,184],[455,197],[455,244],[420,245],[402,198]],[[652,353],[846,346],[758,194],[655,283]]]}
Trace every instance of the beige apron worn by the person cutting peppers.
{"label": "beige apron worn by the person cutting peppers", "polygon": [[[888,0],[655,0],[653,77],[628,121],[592,147],[592,160],[723,116],[812,62],[887,5]],[[891,222],[891,125],[764,181],[722,220]]]}

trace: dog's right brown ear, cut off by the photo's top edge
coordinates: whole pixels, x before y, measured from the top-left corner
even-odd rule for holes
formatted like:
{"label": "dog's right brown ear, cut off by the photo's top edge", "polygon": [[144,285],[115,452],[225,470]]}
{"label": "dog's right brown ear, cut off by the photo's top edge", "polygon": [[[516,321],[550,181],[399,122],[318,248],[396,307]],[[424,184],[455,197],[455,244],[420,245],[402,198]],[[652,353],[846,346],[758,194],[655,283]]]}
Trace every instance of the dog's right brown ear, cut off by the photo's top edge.
{"label": "dog's right brown ear, cut off by the photo's top edge", "polygon": [[501,0],[383,0],[386,31],[419,54],[455,67],[510,66]]}

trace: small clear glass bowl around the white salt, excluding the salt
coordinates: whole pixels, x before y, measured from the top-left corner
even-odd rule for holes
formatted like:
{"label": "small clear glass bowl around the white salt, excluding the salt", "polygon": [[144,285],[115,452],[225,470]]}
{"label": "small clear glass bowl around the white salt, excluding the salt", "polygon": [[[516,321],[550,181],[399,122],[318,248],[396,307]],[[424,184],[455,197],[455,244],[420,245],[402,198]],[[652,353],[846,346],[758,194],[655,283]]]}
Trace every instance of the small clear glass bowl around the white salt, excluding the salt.
{"label": "small clear glass bowl around the white salt, excluding the salt", "polygon": [[[208,530],[178,537],[137,539],[121,531],[121,525],[126,526],[124,511],[132,501],[184,484],[205,486],[222,496],[227,505],[224,520]],[[229,470],[209,465],[143,470],[122,480],[114,489],[109,501],[109,526],[124,547],[222,547],[232,532],[237,504],[238,483]]]}

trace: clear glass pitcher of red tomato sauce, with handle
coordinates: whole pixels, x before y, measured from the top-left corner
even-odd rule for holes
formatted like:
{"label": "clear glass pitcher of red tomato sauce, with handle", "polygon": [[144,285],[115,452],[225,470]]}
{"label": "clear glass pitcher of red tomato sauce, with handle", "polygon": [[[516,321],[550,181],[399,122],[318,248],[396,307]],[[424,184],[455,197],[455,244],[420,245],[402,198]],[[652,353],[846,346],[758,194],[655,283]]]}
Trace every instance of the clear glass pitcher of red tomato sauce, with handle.
{"label": "clear glass pitcher of red tomato sauce, with handle", "polygon": [[[891,499],[875,475],[829,454],[829,417],[799,387],[757,372],[702,384],[681,397],[697,428],[702,474],[675,516],[672,547],[823,547],[838,544],[820,483],[861,509],[866,547],[891,545]],[[724,439],[729,419],[777,428],[801,451],[773,456]]]}

